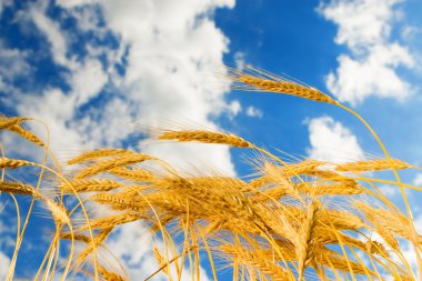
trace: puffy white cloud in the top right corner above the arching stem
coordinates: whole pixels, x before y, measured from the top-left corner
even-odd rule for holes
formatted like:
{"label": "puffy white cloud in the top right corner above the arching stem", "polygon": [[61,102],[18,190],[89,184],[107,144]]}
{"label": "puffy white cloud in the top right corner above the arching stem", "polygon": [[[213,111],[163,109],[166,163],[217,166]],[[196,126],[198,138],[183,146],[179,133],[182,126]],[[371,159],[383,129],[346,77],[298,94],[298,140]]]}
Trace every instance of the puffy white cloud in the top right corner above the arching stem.
{"label": "puffy white cloud in the top right corner above the arching stem", "polygon": [[414,58],[406,47],[391,39],[399,0],[321,1],[318,11],[338,26],[335,43],[346,53],[338,58],[339,67],[325,79],[328,89],[340,101],[352,106],[373,96],[403,100],[412,87],[399,68],[411,69]]}

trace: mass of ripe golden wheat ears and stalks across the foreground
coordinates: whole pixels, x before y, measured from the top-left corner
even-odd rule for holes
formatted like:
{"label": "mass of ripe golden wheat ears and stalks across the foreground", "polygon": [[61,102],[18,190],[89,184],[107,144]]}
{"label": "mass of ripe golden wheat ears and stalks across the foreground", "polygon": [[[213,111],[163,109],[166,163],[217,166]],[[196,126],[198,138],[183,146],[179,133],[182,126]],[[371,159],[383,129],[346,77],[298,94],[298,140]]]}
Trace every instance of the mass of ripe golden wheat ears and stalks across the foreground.
{"label": "mass of ripe golden wheat ears and stalks across the foreground", "polygon": [[[30,117],[1,117],[0,130],[14,133],[44,152],[44,160],[8,158],[1,147],[1,193],[20,213],[19,197],[31,201],[18,215],[14,253],[7,280],[13,280],[19,250],[36,202],[56,228],[34,280],[129,280],[119,261],[110,265],[105,241],[121,225],[142,221],[163,241],[154,248],[159,267],[145,280],[165,274],[181,280],[190,269],[200,280],[207,264],[213,280],[418,280],[422,277],[422,235],[415,230],[408,190],[399,171],[420,169],[392,158],[370,124],[356,112],[318,89],[262,70],[228,69],[235,90],[290,94],[339,107],[365,126],[384,157],[334,163],[314,159],[288,161],[241,137],[208,130],[163,130],[157,141],[201,142],[254,152],[257,171],[248,178],[187,174],[164,159],[121,148],[86,151],[59,164],[49,143],[26,123]],[[50,159],[50,161],[47,161]],[[390,171],[394,180],[379,177]],[[26,174],[30,181],[13,177]],[[44,183],[48,182],[48,189]],[[404,208],[385,195],[383,184],[400,190]],[[6,197],[1,197],[3,199]],[[72,202],[72,203],[71,203]],[[107,212],[92,213],[87,205]],[[21,219],[22,218],[22,219]],[[403,244],[412,245],[416,267]],[[64,259],[61,250],[69,251]],[[22,258],[22,257],[20,257]],[[1,264],[0,264],[1,267]]]}

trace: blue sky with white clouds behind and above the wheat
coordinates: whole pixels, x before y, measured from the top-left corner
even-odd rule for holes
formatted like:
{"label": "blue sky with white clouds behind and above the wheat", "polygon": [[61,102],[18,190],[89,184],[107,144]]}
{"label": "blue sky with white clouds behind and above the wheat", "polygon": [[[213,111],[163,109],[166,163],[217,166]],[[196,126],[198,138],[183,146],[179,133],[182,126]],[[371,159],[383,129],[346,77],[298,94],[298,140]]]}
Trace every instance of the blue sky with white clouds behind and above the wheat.
{"label": "blue sky with white clouds behind and above the wheat", "polygon": [[[46,122],[59,160],[114,147],[185,171],[252,171],[239,150],[157,143],[142,134],[145,128],[174,127],[224,130],[301,158],[345,162],[382,155],[362,123],[336,107],[231,91],[218,78],[224,63],[252,64],[333,96],[370,122],[393,157],[421,165],[421,13],[420,0],[0,0],[0,112]],[[30,128],[46,138],[39,123]],[[10,133],[0,138],[8,155],[42,157]],[[402,175],[422,185],[422,173]],[[396,190],[389,192],[400,203]],[[421,199],[411,197],[416,221]],[[0,211],[2,279],[14,233],[6,194]],[[131,224],[109,242],[132,277],[154,268],[145,247],[151,238],[142,233]],[[18,260],[22,278],[37,264],[32,237],[27,250],[34,262]],[[133,250],[128,237],[143,250]]]}

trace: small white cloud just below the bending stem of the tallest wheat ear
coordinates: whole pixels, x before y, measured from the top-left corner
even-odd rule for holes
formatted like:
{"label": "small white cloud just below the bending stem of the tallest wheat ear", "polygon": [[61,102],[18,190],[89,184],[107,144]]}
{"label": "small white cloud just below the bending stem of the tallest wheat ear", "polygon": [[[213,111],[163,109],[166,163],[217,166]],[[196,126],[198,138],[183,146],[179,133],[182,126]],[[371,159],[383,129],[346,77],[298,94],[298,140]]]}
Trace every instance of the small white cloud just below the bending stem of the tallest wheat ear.
{"label": "small white cloud just below the bending stem of the tallest wheat ear", "polygon": [[314,118],[308,124],[310,158],[338,163],[364,159],[356,137],[331,117]]}

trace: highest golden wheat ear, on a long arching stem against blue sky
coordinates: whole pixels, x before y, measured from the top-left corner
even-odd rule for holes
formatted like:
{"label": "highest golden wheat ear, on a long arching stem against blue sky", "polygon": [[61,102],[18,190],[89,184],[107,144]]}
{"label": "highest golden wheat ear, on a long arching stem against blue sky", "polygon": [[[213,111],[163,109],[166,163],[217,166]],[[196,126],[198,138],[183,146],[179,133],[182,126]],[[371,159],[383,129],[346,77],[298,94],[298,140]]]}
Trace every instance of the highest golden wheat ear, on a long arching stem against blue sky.
{"label": "highest golden wheat ear, on a long arching stem against blue sky", "polygon": [[308,100],[336,104],[333,98],[312,87],[247,66],[243,70],[228,68],[233,90],[284,93]]}

